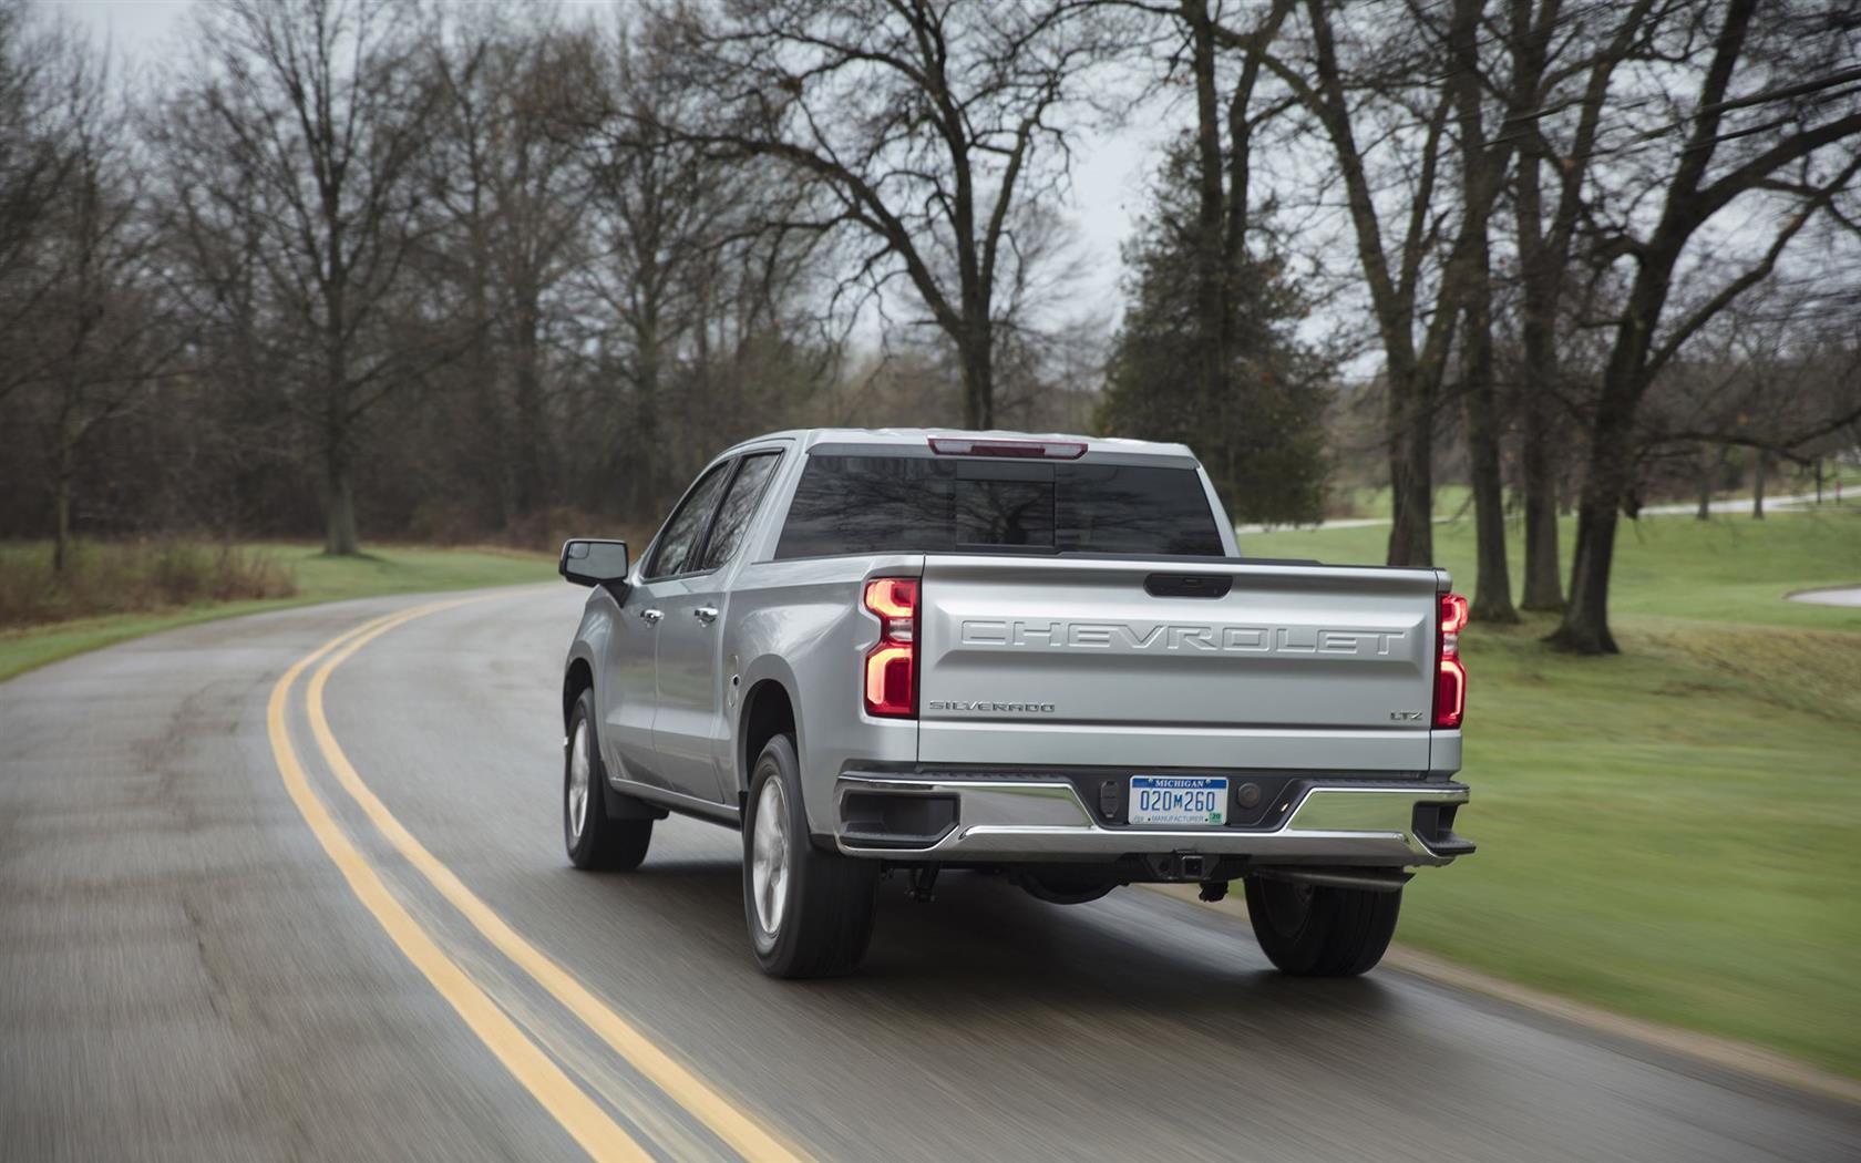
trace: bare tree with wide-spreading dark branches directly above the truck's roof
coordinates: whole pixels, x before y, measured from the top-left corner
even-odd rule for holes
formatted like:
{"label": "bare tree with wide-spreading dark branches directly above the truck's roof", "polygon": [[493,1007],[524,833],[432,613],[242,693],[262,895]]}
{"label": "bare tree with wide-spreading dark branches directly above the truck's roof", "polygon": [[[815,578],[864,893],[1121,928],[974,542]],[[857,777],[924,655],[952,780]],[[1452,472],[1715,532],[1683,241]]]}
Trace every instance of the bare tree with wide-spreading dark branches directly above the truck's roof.
{"label": "bare tree with wide-spreading dark branches directly above the truck's roof", "polygon": [[964,421],[994,424],[997,292],[1025,261],[1014,207],[1064,184],[1118,22],[957,0],[731,0],[674,20],[711,102],[666,132],[826,190],[808,225],[864,240],[869,288],[906,281],[960,355]]}

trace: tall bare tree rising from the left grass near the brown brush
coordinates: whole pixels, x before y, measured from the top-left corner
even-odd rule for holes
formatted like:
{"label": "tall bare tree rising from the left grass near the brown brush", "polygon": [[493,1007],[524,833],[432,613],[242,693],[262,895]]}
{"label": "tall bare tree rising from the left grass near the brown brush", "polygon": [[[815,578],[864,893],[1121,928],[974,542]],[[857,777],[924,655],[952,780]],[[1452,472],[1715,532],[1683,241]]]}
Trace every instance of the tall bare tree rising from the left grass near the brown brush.
{"label": "tall bare tree rising from the left grass near the brown brush", "polygon": [[[322,461],[328,553],[355,553],[363,417],[430,352],[380,342],[415,242],[413,164],[434,108],[387,0],[227,0],[205,13],[205,80],[181,95],[210,151],[244,175],[279,322],[300,342]],[[285,337],[279,337],[285,342]]]}

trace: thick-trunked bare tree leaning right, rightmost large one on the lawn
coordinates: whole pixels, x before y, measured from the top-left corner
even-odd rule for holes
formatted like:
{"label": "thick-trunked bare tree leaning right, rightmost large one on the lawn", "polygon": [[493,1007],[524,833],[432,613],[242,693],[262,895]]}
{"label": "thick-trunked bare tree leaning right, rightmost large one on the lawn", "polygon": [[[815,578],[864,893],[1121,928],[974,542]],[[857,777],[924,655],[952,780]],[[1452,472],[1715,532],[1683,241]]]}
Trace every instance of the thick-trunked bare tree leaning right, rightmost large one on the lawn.
{"label": "thick-trunked bare tree leaning right, rightmost large one on the lawn", "polygon": [[[1835,9],[1757,13],[1757,0],[1723,11],[1699,6],[1677,22],[1660,65],[1666,125],[1641,128],[1640,156],[1612,158],[1623,210],[1593,221],[1602,262],[1628,264],[1628,292],[1610,320],[1608,363],[1589,421],[1589,452],[1571,562],[1571,601],[1552,642],[1615,653],[1608,625],[1610,568],[1621,512],[1632,502],[1636,419],[1654,378],[1714,316],[1764,283],[1798,234],[1852,190],[1861,171],[1861,104],[1844,65],[1861,30]],[[1688,76],[1679,84],[1675,73]],[[1852,80],[1852,76],[1846,76]],[[1586,164],[1584,158],[1563,158]],[[1587,158],[1591,175],[1599,162]],[[1606,175],[1604,175],[1606,177]],[[1682,266],[1692,244],[1729,207],[1774,199],[1775,227],[1734,274]],[[1684,294],[1679,277],[1688,274]]]}

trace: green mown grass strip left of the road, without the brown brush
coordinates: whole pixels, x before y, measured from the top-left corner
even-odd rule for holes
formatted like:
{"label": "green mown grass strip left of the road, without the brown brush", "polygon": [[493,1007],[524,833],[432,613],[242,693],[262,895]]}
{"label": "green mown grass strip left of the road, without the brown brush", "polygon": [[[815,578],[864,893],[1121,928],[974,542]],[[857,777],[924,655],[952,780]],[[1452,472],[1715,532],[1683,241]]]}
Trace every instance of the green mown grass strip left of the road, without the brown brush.
{"label": "green mown grass strip left of the road, without the brown brush", "polygon": [[[0,633],[0,679],[67,659],[87,649],[138,638],[156,631],[231,618],[255,610],[378,597],[383,594],[421,594],[428,590],[475,590],[512,586],[555,577],[553,560],[543,555],[501,549],[368,547],[365,556],[326,556],[311,545],[248,545],[287,568],[296,594],[281,599],[195,603],[181,608],[76,618]],[[43,555],[43,543],[0,545],[0,569]]]}

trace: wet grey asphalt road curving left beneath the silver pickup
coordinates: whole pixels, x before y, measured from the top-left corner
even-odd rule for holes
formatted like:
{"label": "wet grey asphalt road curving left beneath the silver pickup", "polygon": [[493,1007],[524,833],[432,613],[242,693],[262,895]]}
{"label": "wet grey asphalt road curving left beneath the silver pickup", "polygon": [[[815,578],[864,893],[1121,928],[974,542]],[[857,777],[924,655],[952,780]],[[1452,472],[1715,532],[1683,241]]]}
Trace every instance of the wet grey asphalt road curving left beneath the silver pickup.
{"label": "wet grey asphalt road curving left beneath the silver pickup", "polygon": [[0,685],[0,1157],[1861,1157],[1861,1107],[1390,969],[1286,981],[1139,889],[891,884],[860,977],[769,981],[737,834],[564,863],[579,599],[307,668],[424,603],[288,610]]}

